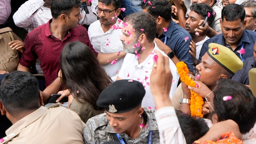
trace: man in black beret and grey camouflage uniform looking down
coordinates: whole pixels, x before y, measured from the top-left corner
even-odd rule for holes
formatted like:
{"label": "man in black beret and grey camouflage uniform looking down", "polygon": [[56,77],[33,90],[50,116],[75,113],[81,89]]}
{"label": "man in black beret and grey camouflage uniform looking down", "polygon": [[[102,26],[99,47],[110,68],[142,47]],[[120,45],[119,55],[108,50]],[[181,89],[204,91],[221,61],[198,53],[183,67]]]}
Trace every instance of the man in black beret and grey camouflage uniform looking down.
{"label": "man in black beret and grey camouflage uniform looking down", "polygon": [[135,80],[119,80],[104,89],[97,105],[105,113],[87,121],[83,129],[85,143],[159,144],[155,109],[141,107],[144,96],[144,86]]}

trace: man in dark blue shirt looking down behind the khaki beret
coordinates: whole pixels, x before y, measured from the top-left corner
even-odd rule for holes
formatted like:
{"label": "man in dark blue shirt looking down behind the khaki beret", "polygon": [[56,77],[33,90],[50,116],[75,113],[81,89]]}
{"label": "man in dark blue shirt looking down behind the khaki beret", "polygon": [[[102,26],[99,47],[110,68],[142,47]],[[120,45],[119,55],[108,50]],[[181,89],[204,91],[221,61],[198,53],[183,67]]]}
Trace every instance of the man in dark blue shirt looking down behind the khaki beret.
{"label": "man in dark blue shirt looking down behind the khaki beret", "polygon": [[218,34],[204,42],[198,63],[201,62],[201,57],[206,53],[211,42],[228,47],[242,61],[253,56],[256,33],[245,29],[247,21],[244,18],[245,10],[242,6],[229,4],[223,7],[220,20],[222,34]]}

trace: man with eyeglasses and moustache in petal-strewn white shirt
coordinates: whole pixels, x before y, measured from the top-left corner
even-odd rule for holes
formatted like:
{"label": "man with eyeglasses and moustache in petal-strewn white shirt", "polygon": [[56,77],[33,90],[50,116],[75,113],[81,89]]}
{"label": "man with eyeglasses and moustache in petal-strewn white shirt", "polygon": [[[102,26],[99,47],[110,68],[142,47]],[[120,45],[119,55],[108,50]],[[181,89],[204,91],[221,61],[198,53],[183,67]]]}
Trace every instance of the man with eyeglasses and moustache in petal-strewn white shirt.
{"label": "man with eyeglasses and moustache in petal-strewn white shirt", "polygon": [[118,18],[120,8],[121,0],[99,0],[95,8],[99,20],[93,22],[88,29],[91,44],[97,52],[116,53],[121,56],[116,60],[108,60],[108,64],[103,65],[113,81],[117,79],[126,55],[123,44],[119,41],[123,27],[123,21]]}

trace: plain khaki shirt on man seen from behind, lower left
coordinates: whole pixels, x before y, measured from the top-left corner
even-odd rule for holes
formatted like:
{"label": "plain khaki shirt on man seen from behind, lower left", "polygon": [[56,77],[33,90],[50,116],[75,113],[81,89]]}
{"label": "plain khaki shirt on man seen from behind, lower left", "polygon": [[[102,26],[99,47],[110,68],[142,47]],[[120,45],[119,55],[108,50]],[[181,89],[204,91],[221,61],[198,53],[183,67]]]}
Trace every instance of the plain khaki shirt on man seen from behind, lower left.
{"label": "plain khaki shirt on man seen from behind, lower left", "polygon": [[6,130],[0,144],[84,144],[83,125],[71,110],[41,106]]}

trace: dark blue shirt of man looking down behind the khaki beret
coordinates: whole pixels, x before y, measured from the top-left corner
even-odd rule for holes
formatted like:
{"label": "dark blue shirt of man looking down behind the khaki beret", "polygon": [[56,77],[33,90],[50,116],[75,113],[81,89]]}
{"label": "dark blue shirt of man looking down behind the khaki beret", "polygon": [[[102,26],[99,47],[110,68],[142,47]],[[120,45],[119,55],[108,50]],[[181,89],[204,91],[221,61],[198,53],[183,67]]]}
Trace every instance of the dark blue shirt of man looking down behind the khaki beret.
{"label": "dark blue shirt of man looking down behind the khaki beret", "polygon": [[[240,53],[238,53],[237,51],[240,50],[242,43],[244,43],[243,48],[245,50],[245,54],[242,54],[242,58],[246,59],[246,58],[253,56],[253,46],[254,46],[255,41],[256,41],[256,33],[254,31],[245,29],[243,31],[242,37],[241,37],[237,47],[235,48],[235,50],[232,50],[232,48],[230,48],[230,47],[228,47],[228,48],[231,49],[235,53],[235,55],[237,55],[241,59]],[[218,44],[221,44],[222,46],[227,47],[227,44],[225,43],[225,39],[222,34],[218,34],[218,35],[208,39],[207,41],[205,41],[203,43],[203,46],[201,48],[201,52],[199,55],[198,63],[201,62],[202,56],[208,51],[209,43],[212,43],[212,42],[218,43]]]}

